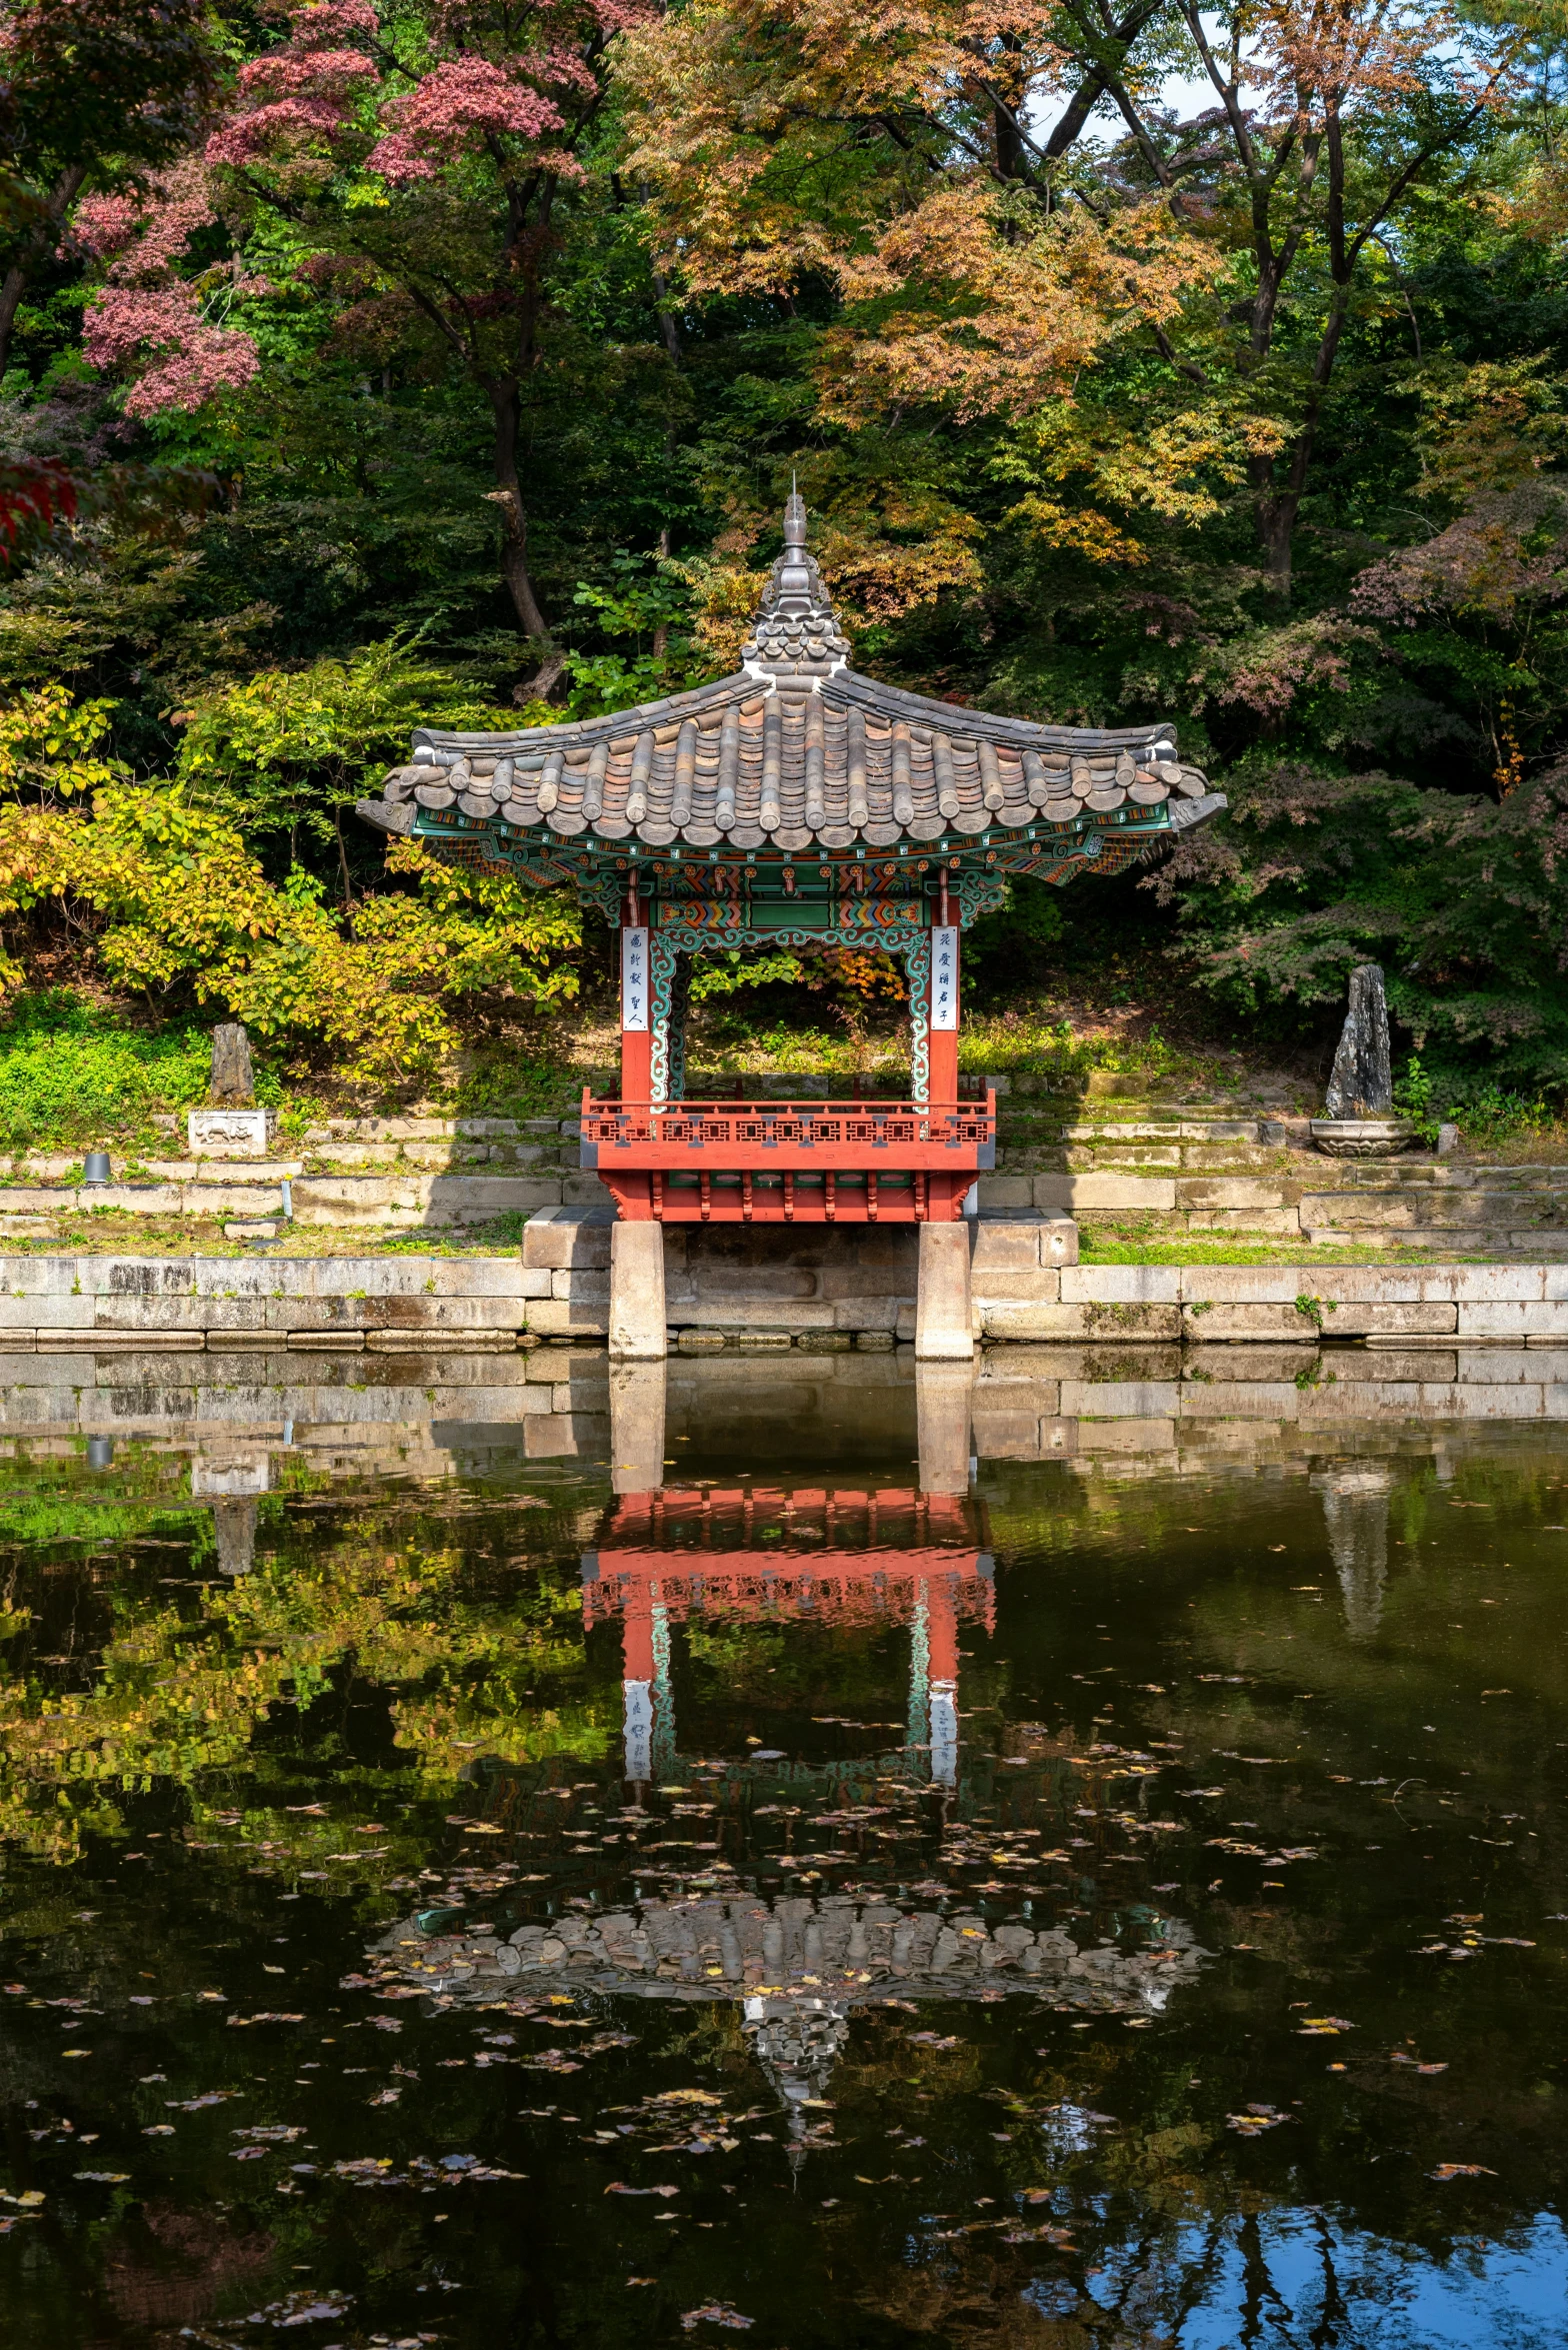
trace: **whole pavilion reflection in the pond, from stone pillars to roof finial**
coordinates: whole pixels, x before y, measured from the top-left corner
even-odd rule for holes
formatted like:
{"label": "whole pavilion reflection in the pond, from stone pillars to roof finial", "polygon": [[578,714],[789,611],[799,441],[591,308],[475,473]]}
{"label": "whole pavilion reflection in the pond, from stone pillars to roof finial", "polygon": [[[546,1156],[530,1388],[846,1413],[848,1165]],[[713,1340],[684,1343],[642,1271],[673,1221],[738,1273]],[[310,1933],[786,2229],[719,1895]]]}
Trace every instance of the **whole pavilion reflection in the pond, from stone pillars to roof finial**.
{"label": "whole pavilion reflection in the pond, from stone pillars to roof finial", "polygon": [[[582,1612],[589,1626],[620,1624],[624,1772],[638,1802],[650,1781],[690,1767],[676,1758],[669,1645],[671,1626],[697,1612],[899,1626],[908,1633],[908,1734],[901,1751],[878,1758],[876,1777],[922,1784],[930,1748],[930,1781],[948,1812],[962,1807],[969,1779],[986,1774],[986,1755],[960,1774],[958,1631],[995,1626],[995,1574],[984,1509],[967,1490],[969,1372],[934,1370],[930,1377],[922,1365],[918,1379],[918,1485],[845,1473],[831,1485],[739,1485],[730,1476],[671,1490],[662,1488],[664,1365],[613,1372],[617,1499],[599,1549],[582,1560]],[[768,1786],[791,1777],[803,1791],[796,1767],[775,1753],[704,1770]],[[831,1779],[836,1770],[805,1774]],[[683,1899],[568,1904],[507,1939],[434,1932],[415,1941],[418,1922],[399,1922],[380,1962],[387,1979],[446,1998],[493,2002],[507,1981],[545,1995],[739,2005],[751,2052],[789,2115],[796,2167],[854,2009],[1023,1990],[1075,2014],[1150,2016],[1202,1962],[1192,1932],[1171,1918],[1143,1948],[1101,1941],[1080,1950],[1059,1925],[988,1918],[962,1892],[918,1892],[922,1904],[864,1885],[768,1896],[714,1868],[704,1889],[692,1885]]]}

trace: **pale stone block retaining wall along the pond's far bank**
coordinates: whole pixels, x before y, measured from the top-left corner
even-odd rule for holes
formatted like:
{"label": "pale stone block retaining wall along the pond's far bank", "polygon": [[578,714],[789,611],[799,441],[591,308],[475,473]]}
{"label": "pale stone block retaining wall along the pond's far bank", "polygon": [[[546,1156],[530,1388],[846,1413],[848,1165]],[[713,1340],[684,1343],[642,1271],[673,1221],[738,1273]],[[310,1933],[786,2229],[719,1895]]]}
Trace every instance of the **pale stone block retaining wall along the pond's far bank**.
{"label": "pale stone block retaining wall along the pond's far bank", "polygon": [[[1568,1347],[1568,1264],[1063,1264],[1070,1227],[972,1227],[981,1340],[1368,1340]],[[913,1340],[915,1229],[667,1231],[676,1347],[866,1351]],[[601,1342],[610,1222],[554,1210],[521,1257],[0,1257],[0,1351],[514,1349]]]}

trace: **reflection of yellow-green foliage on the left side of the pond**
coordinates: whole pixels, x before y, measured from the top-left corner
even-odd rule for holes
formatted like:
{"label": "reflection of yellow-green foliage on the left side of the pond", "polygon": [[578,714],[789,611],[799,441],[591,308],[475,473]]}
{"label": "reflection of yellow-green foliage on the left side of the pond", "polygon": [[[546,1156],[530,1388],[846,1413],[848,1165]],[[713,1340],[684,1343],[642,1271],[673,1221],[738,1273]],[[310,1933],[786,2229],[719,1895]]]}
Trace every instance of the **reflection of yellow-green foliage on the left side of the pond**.
{"label": "reflection of yellow-green foliage on the left side of the pond", "polygon": [[[207,1772],[254,1760],[256,1732],[275,1708],[305,1713],[347,1671],[357,1687],[385,1692],[392,1744],[415,1758],[432,1793],[453,1791],[477,1751],[514,1762],[599,1760],[617,1692],[594,1692],[575,1593],[549,1560],[507,1574],[498,1591],[484,1558],[411,1539],[404,1504],[385,1525],[371,1509],[369,1525],[347,1537],[319,1520],[296,1523],[293,1544],[256,1565],[261,1509],[268,1504],[251,1497],[211,1504],[223,1584],[169,1596],[148,1589],[143,1567],[117,1574],[110,1589],[89,1582],[103,1629],[96,1657],[82,1654],[87,1685],[61,1687],[59,1676],[21,1668],[26,1657],[9,1652],[0,1838],[70,1861],[85,1833],[122,1833],[122,1793],[148,1779],[195,1788]],[[430,1518],[439,1532],[439,1511]],[[14,1598],[31,1589],[21,1572]],[[45,1600],[59,1610],[59,1579],[42,1584],[38,1614]],[[192,1817],[207,1814],[197,1807]],[[270,1817],[258,1807],[251,1831],[251,1859],[279,1866],[336,1842],[326,1826],[282,1810]]]}

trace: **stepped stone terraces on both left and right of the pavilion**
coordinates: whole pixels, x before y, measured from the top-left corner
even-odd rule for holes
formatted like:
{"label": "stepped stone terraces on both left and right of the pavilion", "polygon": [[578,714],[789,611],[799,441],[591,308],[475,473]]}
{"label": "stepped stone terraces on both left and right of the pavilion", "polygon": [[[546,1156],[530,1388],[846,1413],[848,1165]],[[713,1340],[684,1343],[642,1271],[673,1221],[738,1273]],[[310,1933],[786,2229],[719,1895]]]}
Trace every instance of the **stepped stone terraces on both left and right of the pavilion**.
{"label": "stepped stone terraces on both left and right of the pavilion", "polygon": [[[998,1086],[998,1170],[988,1210],[1042,1208],[1138,1238],[1286,1238],[1462,1255],[1568,1255],[1568,1166],[1434,1159],[1324,1159],[1307,1119],[1263,1102],[1030,1095]],[[1117,1083],[1115,1079],[1110,1083]],[[749,1090],[822,1090],[803,1079]],[[577,1166],[577,1119],[324,1119],[268,1159],[190,1156],[183,1123],[155,1121],[169,1154],[110,1149],[110,1182],[87,1187],[82,1156],[0,1156],[0,1238],[49,1238],[94,1208],[218,1224],[291,1215],[296,1224],[441,1231],[542,1208],[610,1206]],[[286,1191],[284,1191],[286,1187]]]}

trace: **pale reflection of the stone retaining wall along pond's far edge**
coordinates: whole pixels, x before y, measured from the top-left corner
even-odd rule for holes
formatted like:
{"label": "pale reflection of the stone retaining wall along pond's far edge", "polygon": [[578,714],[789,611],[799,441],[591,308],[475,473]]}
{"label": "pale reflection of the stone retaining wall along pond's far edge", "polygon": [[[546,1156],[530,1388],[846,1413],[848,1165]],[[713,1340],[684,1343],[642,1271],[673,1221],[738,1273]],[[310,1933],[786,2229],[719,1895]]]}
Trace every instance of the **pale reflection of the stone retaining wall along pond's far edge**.
{"label": "pale reflection of the stone retaining wall along pond's far edge", "polygon": [[[629,1457],[610,1450],[603,1347],[552,1342],[376,1361],[298,1347],[94,1354],[85,1344],[47,1354],[12,1344],[0,1337],[7,1436],[136,1436],[190,1457],[202,1495],[265,1492],[270,1450],[305,1457],[329,1476],[446,1476],[488,1469],[502,1455]],[[962,1401],[953,1408],[962,1410]],[[1077,1473],[1207,1473],[1216,1462],[1300,1459],[1324,1450],[1324,1436],[1338,1455],[1350,1429],[1361,1431],[1359,1445],[1430,1452],[1437,1422],[1474,1422],[1476,1441],[1491,1445],[1507,1441],[1509,1424],[1568,1419],[1568,1344],[1361,1349],[1303,1337],[1291,1347],[995,1347],[976,1365],[969,1410],[981,1464],[1066,1459]],[[671,1361],[667,1415],[667,1450],[690,1436],[751,1469],[906,1459],[927,1434],[925,1405],[915,1419],[908,1349]],[[237,1478],[239,1455],[254,1469],[249,1485]]]}

